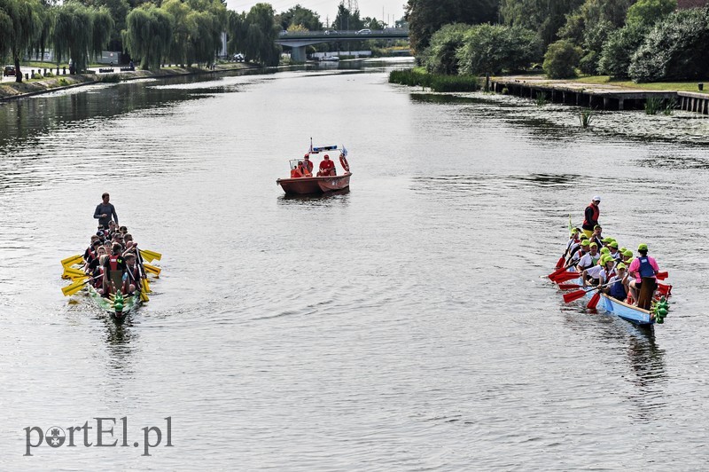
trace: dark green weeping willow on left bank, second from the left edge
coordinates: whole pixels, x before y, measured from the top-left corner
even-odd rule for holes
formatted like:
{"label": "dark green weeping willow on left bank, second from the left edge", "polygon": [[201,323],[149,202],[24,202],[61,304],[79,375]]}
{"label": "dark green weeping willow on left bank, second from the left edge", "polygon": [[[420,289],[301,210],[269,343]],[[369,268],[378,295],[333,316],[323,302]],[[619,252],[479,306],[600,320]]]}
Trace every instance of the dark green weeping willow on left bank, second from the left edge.
{"label": "dark green weeping willow on left bank, second from the left edge", "polygon": [[86,70],[89,59],[101,55],[111,38],[113,18],[105,8],[65,3],[54,12],[52,43],[57,61],[72,59],[74,69]]}

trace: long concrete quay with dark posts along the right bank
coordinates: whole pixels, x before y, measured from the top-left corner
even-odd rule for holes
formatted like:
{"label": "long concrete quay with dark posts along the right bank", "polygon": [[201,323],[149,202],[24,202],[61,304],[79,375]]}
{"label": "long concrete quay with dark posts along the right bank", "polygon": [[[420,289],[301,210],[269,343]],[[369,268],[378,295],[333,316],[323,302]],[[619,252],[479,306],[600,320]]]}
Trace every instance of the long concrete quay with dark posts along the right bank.
{"label": "long concrete quay with dark posts along the right bank", "polygon": [[490,87],[496,93],[604,110],[642,110],[648,98],[659,98],[674,100],[682,110],[709,114],[709,95],[691,91],[644,90],[605,83],[550,81],[532,77],[495,78]]}

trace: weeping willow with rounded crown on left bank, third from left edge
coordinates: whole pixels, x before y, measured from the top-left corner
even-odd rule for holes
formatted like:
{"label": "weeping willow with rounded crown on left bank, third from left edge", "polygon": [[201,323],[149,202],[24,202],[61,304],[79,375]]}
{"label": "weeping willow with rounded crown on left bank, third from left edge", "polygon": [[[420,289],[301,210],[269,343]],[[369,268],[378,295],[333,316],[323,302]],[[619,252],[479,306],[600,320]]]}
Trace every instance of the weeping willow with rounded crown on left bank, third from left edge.
{"label": "weeping willow with rounded crown on left bank, third from left edge", "polygon": [[126,17],[123,45],[133,59],[140,59],[141,68],[159,69],[162,59],[168,58],[173,21],[168,12],[153,4],[144,4]]}

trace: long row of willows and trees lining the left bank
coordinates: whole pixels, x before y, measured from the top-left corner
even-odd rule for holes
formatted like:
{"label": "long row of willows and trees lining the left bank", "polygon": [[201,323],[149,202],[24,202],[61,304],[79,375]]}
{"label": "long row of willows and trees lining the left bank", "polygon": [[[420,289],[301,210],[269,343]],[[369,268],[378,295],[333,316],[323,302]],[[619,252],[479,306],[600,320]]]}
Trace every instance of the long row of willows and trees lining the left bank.
{"label": "long row of willows and trees lining the left bank", "polygon": [[[342,0],[331,28],[382,29],[375,18],[360,18]],[[281,30],[322,30],[316,12],[300,4],[276,13],[270,4],[234,12],[226,0],[0,0],[0,59],[12,60],[17,74],[27,55],[51,49],[57,62],[71,59],[72,72],[86,70],[101,51],[121,51],[145,69],[169,62],[181,66],[211,64],[228,38],[227,52],[275,66]]]}

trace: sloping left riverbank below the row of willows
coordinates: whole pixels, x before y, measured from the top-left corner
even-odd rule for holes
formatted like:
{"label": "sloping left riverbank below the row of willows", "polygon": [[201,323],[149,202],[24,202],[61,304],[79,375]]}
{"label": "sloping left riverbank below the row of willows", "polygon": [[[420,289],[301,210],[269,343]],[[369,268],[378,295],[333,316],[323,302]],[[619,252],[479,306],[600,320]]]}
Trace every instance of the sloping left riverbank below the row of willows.
{"label": "sloping left riverbank below the row of willows", "polygon": [[[0,83],[0,101],[31,97],[51,91],[71,89],[81,85],[102,82],[124,82],[143,78],[162,78],[174,75],[199,75],[256,68],[244,62],[219,64],[214,69],[203,67],[165,67],[160,70],[138,70],[100,74],[55,75],[43,79],[30,79],[21,83]],[[120,67],[115,67],[121,70]]]}

